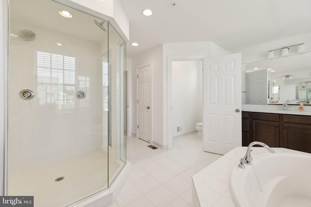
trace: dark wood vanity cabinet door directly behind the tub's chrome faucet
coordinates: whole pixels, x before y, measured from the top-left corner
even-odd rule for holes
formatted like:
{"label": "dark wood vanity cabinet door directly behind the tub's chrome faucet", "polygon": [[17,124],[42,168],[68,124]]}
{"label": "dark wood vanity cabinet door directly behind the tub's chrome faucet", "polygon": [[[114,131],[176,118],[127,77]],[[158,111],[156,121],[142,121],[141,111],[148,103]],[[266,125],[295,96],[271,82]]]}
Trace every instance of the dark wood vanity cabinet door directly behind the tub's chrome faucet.
{"label": "dark wood vanity cabinet door directly behind the tub's chrome faucet", "polygon": [[279,123],[253,120],[252,141],[263,142],[270,147],[279,147]]}

